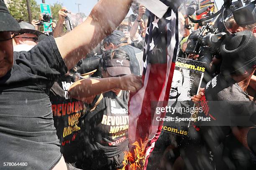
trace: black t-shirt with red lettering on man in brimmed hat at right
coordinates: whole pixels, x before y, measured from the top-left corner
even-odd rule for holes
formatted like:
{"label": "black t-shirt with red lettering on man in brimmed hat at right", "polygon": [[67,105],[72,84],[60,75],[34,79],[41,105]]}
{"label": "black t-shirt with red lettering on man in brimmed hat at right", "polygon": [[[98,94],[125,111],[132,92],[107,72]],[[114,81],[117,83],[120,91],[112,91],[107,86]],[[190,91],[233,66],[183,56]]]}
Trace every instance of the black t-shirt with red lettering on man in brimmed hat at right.
{"label": "black t-shirt with red lettering on man in brimmed hat at right", "polygon": [[203,112],[199,116],[210,117],[210,122],[195,125],[201,126],[200,133],[208,139],[207,145],[214,148],[231,134],[230,126],[254,125],[250,116],[256,112],[255,106],[237,82],[219,74],[207,83],[200,102]]}

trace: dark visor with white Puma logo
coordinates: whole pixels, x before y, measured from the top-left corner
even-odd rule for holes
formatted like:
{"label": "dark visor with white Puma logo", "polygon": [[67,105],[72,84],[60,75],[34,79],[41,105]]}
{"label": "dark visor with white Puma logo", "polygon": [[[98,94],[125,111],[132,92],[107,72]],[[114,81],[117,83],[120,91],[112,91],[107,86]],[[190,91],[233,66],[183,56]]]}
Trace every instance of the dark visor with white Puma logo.
{"label": "dark visor with white Puma logo", "polygon": [[108,71],[108,74],[113,77],[118,76],[118,75],[131,74],[130,61],[122,59],[122,58],[105,60],[103,62],[103,67],[105,67]]}

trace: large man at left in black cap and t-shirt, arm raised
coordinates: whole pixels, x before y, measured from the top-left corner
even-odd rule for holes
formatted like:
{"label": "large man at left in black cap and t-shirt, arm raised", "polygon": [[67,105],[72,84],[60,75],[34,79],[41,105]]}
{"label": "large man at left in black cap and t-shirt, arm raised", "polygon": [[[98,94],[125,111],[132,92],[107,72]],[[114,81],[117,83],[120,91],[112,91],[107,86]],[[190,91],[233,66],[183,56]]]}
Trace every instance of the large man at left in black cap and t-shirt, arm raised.
{"label": "large man at left in black cap and t-shirt, arm raised", "polygon": [[20,26],[0,0],[0,166],[11,170],[20,166],[29,170],[67,169],[54,128],[49,90],[113,32],[131,2],[101,0],[87,20],[68,34],[56,39],[49,36],[28,52],[13,52],[12,31],[19,31]]}

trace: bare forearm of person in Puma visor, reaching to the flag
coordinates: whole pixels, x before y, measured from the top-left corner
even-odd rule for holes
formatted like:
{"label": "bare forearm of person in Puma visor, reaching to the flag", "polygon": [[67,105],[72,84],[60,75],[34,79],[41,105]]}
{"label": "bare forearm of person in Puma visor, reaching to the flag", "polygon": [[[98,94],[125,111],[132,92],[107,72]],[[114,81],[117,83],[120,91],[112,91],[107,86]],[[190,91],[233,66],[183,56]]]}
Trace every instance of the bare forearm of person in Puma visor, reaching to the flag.
{"label": "bare forearm of person in Puma visor, reaching to the flag", "polygon": [[72,98],[87,101],[90,97],[108,92],[115,88],[131,90],[135,92],[142,87],[141,77],[136,75],[125,75],[122,77],[88,78],[75,82],[69,88],[69,95]]}

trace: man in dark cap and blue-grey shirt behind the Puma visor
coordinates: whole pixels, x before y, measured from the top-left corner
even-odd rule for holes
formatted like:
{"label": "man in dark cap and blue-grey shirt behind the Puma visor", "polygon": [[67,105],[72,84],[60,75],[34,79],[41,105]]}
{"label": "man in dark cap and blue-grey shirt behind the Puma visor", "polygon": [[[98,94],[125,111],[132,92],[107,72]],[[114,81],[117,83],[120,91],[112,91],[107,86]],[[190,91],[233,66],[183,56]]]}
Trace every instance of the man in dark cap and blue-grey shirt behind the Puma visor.
{"label": "man in dark cap and blue-grey shirt behind the Puma visor", "polygon": [[128,45],[125,34],[122,31],[115,30],[111,35],[103,40],[105,50],[121,49],[128,53],[131,58],[131,72],[135,75],[141,75],[143,70],[143,52],[131,45]]}

